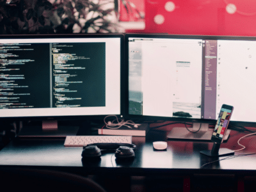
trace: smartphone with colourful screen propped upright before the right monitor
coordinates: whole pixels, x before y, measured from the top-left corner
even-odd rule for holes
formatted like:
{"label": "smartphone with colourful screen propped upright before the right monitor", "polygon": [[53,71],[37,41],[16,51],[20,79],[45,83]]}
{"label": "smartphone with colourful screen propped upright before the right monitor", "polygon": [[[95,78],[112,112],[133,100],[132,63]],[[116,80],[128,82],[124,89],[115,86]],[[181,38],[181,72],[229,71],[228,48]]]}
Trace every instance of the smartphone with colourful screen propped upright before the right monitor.
{"label": "smartphone with colourful screen propped upright before the right monitor", "polygon": [[227,127],[233,113],[234,107],[223,104],[220,109],[220,113],[212,133],[211,141],[215,143],[222,143]]}

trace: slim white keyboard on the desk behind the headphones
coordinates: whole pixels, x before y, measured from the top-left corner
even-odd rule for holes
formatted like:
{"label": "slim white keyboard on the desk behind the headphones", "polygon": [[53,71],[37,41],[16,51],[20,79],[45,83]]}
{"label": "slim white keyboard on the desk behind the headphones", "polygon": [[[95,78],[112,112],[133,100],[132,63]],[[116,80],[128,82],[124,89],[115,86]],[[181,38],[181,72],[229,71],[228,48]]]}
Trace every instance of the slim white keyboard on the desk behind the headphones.
{"label": "slim white keyboard on the desk behind the headphones", "polygon": [[67,136],[65,147],[83,147],[92,143],[132,143],[132,136]]}

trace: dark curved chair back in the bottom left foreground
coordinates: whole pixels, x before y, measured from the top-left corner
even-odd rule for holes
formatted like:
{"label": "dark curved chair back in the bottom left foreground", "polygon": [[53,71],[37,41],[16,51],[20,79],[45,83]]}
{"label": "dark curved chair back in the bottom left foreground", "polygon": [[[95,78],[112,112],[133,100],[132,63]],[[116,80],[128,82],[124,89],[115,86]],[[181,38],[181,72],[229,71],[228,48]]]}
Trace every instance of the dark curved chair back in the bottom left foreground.
{"label": "dark curved chair back in the bottom left foreground", "polygon": [[0,177],[1,189],[8,191],[106,192],[92,179],[53,170],[4,167],[0,168]]}

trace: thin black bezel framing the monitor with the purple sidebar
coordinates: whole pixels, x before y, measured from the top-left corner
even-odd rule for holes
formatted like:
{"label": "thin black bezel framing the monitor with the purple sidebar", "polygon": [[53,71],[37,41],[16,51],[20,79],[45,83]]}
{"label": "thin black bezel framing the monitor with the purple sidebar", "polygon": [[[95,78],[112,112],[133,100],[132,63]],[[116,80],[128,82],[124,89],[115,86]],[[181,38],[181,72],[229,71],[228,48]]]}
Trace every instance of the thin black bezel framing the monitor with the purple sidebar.
{"label": "thin black bezel framing the monitor with the purple sidebar", "polygon": [[[129,114],[129,38],[183,38],[183,39],[205,39],[205,40],[248,40],[256,41],[255,36],[212,36],[212,35],[168,35],[159,33],[130,33],[125,34],[124,41],[124,51],[125,51],[125,106],[124,106],[124,116],[128,119],[133,120],[143,120],[143,121],[157,121],[164,120],[170,122],[191,122],[191,123],[204,123],[204,124],[216,124],[216,120],[211,119],[201,119],[201,118],[183,118],[183,117],[168,117],[168,116],[148,116],[148,115],[131,115]],[[234,106],[236,110],[236,106]],[[246,126],[246,127],[256,127],[255,122],[243,122],[243,121],[232,121],[230,120],[230,125],[232,126]]]}

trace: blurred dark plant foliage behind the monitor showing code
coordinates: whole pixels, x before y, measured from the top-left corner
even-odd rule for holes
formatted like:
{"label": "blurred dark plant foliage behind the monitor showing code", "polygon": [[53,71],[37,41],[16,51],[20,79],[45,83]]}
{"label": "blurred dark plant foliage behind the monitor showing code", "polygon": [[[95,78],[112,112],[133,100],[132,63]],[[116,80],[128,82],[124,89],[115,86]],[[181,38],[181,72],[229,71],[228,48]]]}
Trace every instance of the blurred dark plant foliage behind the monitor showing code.
{"label": "blurred dark plant foliage behind the monitor showing code", "polygon": [[0,35],[116,33],[118,0],[0,0]]}

